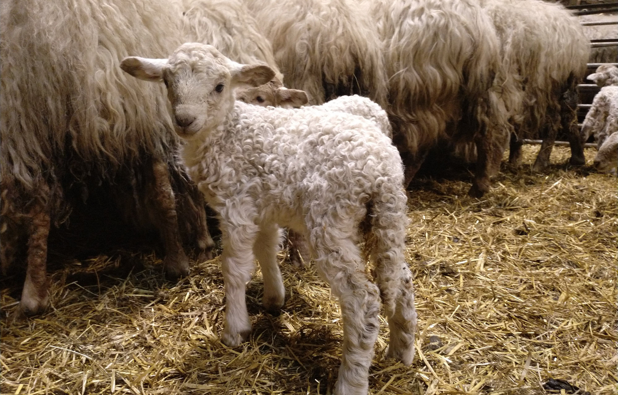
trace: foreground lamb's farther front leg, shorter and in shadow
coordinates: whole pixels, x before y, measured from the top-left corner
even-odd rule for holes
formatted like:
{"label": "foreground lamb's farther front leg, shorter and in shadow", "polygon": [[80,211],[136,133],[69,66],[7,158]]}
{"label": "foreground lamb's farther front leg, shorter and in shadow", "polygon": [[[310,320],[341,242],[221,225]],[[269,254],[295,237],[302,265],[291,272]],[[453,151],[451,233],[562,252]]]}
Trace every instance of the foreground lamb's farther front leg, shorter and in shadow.
{"label": "foreground lamb's farther front leg, shorter and in shadow", "polygon": [[268,312],[279,311],[286,299],[286,289],[277,265],[277,250],[281,241],[281,231],[275,224],[261,227],[253,245],[253,253],[258,258],[264,280],[262,304]]}

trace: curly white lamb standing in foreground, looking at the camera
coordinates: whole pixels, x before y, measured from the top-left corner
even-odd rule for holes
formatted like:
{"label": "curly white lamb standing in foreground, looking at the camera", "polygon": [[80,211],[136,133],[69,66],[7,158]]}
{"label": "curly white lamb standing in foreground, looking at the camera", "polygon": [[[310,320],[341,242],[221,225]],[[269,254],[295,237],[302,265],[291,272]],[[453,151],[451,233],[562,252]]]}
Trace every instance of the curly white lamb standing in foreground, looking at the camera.
{"label": "curly white lamb standing in foreground, looking at the camera", "polygon": [[[190,177],[221,219],[228,346],[247,339],[245,286],[258,259],[263,304],[284,304],[277,267],[279,226],[310,241],[320,276],[339,298],[344,344],[337,394],[366,394],[379,330],[379,296],[391,328],[387,355],[412,363],[416,312],[405,262],[406,195],[396,148],[376,125],[315,108],[263,108],[234,100],[240,84],[269,82],[267,66],[237,64],[212,46],[185,43],[169,59],[127,57],[121,67],[163,80],[181,156]],[[375,262],[365,274],[357,245]]]}

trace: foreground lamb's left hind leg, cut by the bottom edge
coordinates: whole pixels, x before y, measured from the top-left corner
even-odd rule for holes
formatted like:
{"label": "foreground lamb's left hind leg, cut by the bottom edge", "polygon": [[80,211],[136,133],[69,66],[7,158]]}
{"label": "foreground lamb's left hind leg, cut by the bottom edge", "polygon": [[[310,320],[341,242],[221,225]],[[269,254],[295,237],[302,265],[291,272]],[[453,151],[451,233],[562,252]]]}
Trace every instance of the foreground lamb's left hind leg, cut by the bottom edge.
{"label": "foreground lamb's left hind leg, cut by the bottom edge", "polygon": [[343,318],[344,343],[334,393],[364,395],[379,331],[378,287],[366,278],[358,247],[351,239],[337,229],[321,225],[313,229],[316,268],[339,298]]}

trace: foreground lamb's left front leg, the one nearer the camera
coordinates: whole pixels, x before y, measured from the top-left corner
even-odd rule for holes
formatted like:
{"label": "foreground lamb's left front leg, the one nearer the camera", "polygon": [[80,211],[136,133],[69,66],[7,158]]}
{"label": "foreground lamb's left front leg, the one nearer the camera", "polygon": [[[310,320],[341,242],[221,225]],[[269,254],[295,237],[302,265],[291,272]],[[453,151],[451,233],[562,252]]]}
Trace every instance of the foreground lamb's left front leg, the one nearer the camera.
{"label": "foreground lamb's left front leg, the one nearer the camera", "polygon": [[235,347],[247,341],[251,333],[245,291],[255,269],[253,245],[258,229],[255,225],[227,229],[222,224],[221,232],[221,271],[226,292],[226,320],[221,341]]}

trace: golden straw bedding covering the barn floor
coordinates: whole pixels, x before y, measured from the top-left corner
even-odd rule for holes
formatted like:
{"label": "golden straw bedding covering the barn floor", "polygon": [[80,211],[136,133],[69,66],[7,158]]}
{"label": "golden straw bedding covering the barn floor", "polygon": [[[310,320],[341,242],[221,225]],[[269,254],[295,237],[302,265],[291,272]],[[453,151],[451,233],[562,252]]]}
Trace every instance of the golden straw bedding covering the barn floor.
{"label": "golden straw bedding covering the barn floor", "polygon": [[[467,181],[415,183],[417,357],[411,367],[384,357],[383,320],[372,394],[546,394],[548,378],[618,393],[617,178],[558,164],[533,174],[538,147],[524,147],[516,174],[503,165],[483,200],[465,195]],[[568,153],[555,148],[552,163]],[[218,341],[218,258],[178,284],[153,255],[124,261],[132,271],[110,257],[54,271],[53,308],[25,321],[10,318],[19,287],[2,289],[2,394],[330,393],[341,320],[311,267],[282,265],[279,316],[261,308],[255,276],[250,342],[230,349]]]}

